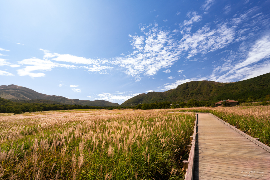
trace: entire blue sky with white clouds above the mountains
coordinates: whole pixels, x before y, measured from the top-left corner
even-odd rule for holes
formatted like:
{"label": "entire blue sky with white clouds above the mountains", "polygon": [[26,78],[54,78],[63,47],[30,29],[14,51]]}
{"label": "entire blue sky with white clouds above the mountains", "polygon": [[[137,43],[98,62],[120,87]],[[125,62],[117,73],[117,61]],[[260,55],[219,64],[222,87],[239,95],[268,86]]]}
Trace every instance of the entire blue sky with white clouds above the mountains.
{"label": "entire blue sky with white clouds above the mountains", "polygon": [[1,1],[0,85],[123,103],[270,72],[270,1]]}

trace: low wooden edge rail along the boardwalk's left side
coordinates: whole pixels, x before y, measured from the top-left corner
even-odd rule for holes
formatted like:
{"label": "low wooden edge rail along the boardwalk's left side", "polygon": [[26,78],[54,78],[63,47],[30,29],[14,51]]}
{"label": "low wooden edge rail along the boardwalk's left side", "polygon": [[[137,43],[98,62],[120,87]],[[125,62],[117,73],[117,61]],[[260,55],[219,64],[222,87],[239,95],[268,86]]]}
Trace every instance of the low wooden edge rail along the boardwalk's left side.
{"label": "low wooden edge rail along the boardwalk's left side", "polygon": [[190,138],[191,138],[191,150],[190,150],[190,153],[189,153],[189,156],[188,156],[188,168],[186,170],[185,180],[192,180],[193,179],[197,122],[198,122],[198,114],[196,114],[196,117],[195,117],[193,136],[190,136]]}

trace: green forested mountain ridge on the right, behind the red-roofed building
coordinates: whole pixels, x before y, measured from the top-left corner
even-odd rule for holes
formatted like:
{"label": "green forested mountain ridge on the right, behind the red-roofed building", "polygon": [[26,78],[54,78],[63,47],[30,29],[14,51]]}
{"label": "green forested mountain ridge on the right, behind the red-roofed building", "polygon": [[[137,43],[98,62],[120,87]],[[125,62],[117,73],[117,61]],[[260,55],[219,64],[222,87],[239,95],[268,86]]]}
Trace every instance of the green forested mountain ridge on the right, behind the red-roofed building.
{"label": "green forested mountain ridge on the right, behind the red-roofed building", "polygon": [[121,106],[131,106],[131,104],[136,106],[139,103],[154,103],[156,101],[186,102],[190,99],[198,101],[237,100],[248,99],[249,96],[259,99],[267,94],[270,94],[270,73],[233,83],[191,81],[165,92],[139,94],[125,101]]}

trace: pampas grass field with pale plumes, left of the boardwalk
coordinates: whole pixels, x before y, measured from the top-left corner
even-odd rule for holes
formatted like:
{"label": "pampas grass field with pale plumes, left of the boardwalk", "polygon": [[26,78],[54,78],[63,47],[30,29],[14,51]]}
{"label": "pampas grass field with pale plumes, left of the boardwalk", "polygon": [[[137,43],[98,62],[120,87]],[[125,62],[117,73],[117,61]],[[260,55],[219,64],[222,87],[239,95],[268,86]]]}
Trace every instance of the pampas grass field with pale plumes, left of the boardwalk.
{"label": "pampas grass field with pale plumes, left of the boardwalk", "polygon": [[195,120],[168,110],[0,116],[0,179],[183,179]]}

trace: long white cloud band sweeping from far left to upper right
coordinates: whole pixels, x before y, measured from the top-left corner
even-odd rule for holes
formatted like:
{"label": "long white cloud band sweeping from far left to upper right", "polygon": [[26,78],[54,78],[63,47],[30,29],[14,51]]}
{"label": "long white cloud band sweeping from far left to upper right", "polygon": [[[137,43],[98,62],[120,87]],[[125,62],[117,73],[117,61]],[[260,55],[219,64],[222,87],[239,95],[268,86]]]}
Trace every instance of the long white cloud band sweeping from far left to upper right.
{"label": "long white cloud band sweeping from far left to upper right", "polygon": [[[214,1],[207,0],[202,8],[207,11],[213,3]],[[262,17],[268,18],[258,12],[255,13],[255,11],[257,11],[256,8],[252,8],[242,14],[236,14],[232,19],[206,23],[203,27],[197,28],[196,31],[191,31],[191,27],[195,26],[193,23],[199,22],[203,18],[196,11],[187,13],[188,19],[182,23],[184,26],[173,31],[164,30],[164,27],[158,27],[157,23],[140,24],[141,34],[129,35],[133,52],[127,55],[122,53],[120,57],[111,59],[61,55],[40,49],[44,52],[43,59],[32,58],[20,61],[20,65],[26,67],[18,70],[18,73],[22,76],[40,77],[45,76],[46,71],[61,67],[87,69],[89,72],[99,74],[109,74],[109,71],[116,69],[133,76],[135,81],[140,81],[143,76],[156,75],[160,70],[168,73],[168,68],[177,61],[179,61],[179,65],[185,63],[184,66],[187,63],[183,62],[183,59],[191,59],[196,55],[205,56],[207,53],[228,47],[235,42],[241,42],[249,36],[254,36],[252,34],[258,31],[254,30],[254,28],[258,28],[258,20],[261,21]],[[254,14],[258,15],[254,17]],[[252,23],[245,23],[245,26],[242,25],[241,29],[241,22],[246,21],[251,16],[254,17]],[[265,25],[267,25],[266,22]],[[183,38],[179,40],[179,37]],[[201,58],[192,59],[198,60]]]}

